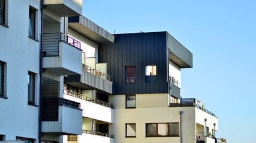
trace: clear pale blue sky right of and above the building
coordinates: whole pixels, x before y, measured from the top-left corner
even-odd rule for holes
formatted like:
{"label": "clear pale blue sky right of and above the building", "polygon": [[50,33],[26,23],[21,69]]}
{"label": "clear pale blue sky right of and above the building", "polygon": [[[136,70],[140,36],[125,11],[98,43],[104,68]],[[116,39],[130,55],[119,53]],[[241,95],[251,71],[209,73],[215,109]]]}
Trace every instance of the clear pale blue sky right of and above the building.
{"label": "clear pale blue sky right of and above the building", "polygon": [[110,33],[167,31],[193,53],[182,97],[219,119],[217,138],[255,142],[256,1],[83,0],[83,15]]}

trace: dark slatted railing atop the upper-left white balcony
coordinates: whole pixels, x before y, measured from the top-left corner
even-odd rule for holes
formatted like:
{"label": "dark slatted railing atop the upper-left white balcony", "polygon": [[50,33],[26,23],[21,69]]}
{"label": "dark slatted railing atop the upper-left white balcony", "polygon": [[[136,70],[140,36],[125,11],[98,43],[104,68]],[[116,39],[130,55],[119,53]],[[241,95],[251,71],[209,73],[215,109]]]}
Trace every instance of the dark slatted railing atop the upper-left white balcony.
{"label": "dark slatted railing atop the upper-left white balcony", "polygon": [[59,41],[81,49],[81,43],[64,33],[43,33],[43,57],[59,56]]}

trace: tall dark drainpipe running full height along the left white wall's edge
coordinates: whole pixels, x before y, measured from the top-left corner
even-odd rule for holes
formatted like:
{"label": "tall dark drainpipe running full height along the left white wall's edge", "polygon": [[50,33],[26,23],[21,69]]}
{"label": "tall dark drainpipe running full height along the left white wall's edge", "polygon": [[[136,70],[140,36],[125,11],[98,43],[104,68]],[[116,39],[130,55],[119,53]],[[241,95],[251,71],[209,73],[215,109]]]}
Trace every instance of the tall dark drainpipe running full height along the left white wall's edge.
{"label": "tall dark drainpipe running full height along the left white wall's edge", "polygon": [[39,91],[39,125],[38,125],[38,142],[42,141],[42,84],[43,84],[43,8],[44,0],[40,0],[41,9],[41,28],[40,28],[40,91]]}

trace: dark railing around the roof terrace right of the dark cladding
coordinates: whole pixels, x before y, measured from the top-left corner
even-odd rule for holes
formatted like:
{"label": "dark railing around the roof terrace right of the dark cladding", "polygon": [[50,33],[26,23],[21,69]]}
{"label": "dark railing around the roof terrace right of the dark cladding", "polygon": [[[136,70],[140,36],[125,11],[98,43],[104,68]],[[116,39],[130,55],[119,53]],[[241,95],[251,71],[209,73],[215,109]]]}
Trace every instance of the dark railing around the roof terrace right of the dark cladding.
{"label": "dark railing around the roof terrace right of the dark cladding", "polygon": [[170,103],[169,107],[197,107],[198,109],[212,115],[213,117],[216,117],[215,114],[210,112],[209,110],[206,110],[205,108],[198,105],[193,98],[182,98],[180,100],[180,103]]}

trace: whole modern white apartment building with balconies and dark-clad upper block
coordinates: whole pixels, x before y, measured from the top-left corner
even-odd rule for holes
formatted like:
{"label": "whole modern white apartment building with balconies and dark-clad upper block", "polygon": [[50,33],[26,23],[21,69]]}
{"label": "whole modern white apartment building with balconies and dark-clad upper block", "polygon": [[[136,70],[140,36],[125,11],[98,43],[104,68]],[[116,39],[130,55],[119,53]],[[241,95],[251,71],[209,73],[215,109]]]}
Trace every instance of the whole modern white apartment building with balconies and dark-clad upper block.
{"label": "whole modern white apartment building with balconies and dark-clad upper block", "polygon": [[0,142],[215,142],[168,32],[112,35],[82,0],[0,0],[0,33]]}

